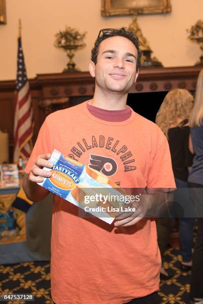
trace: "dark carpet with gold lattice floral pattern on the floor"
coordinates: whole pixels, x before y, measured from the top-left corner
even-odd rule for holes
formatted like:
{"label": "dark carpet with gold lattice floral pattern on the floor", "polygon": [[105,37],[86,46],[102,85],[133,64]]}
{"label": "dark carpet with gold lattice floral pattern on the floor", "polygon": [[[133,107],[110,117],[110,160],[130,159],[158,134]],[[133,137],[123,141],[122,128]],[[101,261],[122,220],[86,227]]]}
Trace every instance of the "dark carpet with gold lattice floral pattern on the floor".
{"label": "dark carpet with gold lattice floral pattern on the floor", "polygon": [[[165,268],[170,280],[160,284],[161,304],[189,304],[190,273],[179,269],[180,251],[169,248],[166,252]],[[0,293],[33,294],[35,302],[52,304],[50,295],[50,264],[48,262],[27,262],[0,266]],[[1,302],[5,303],[5,302]],[[7,302],[23,304],[25,302]]]}

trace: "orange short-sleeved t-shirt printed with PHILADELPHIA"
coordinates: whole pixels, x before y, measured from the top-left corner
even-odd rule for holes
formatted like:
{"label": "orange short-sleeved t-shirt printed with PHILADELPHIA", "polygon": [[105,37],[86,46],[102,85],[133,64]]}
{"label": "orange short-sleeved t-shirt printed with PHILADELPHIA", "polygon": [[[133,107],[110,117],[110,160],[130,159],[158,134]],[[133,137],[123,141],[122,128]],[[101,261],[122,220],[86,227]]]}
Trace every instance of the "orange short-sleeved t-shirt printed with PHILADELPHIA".
{"label": "orange short-sleeved t-shirt printed with PHILADELPHIA", "polygon": [[[87,102],[49,115],[25,172],[54,149],[108,175],[121,187],[174,188],[166,137],[132,110],[123,122],[94,117]],[[159,289],[161,258],[154,220],[115,228],[81,218],[54,196],[51,290],[57,304],[123,304]]]}

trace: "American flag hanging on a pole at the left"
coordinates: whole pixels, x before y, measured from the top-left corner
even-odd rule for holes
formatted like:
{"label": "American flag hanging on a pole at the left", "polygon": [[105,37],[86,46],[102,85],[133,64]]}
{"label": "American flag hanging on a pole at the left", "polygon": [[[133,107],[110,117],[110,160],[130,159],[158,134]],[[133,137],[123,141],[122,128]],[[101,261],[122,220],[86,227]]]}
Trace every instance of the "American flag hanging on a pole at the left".
{"label": "American flag hanging on a pole at the left", "polygon": [[18,37],[17,79],[15,92],[14,161],[31,154],[33,135],[33,110],[29,83],[26,76],[21,37]]}

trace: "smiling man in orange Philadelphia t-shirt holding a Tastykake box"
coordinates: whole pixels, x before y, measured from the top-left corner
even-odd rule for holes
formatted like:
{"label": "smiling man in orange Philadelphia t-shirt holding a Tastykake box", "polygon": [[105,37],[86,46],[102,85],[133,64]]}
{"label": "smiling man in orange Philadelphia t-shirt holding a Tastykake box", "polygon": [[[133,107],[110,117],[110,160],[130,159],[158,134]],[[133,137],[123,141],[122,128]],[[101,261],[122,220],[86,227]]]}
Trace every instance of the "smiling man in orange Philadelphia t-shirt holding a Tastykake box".
{"label": "smiling man in orange Philadelphia t-shirt holding a Tastykake box", "polygon": [[[126,105],[138,76],[138,40],[125,28],[101,30],[89,72],[94,97],[47,117],[26,167],[24,190],[40,201],[36,184],[50,176],[50,153],[105,173],[125,188],[175,187],[168,143],[160,129]],[[135,101],[138,102],[138,101]],[[112,225],[78,217],[78,208],[54,197],[51,286],[57,304],[156,303],[161,265],[155,221],[141,211],[118,214]]]}

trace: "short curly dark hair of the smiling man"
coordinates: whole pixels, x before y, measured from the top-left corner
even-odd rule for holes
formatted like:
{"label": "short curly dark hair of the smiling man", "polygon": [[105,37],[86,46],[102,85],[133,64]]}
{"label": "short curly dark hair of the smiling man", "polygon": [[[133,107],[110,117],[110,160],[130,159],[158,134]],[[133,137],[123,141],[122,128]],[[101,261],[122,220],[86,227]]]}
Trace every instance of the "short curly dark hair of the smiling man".
{"label": "short curly dark hair of the smiling man", "polygon": [[91,61],[93,61],[93,63],[96,65],[97,63],[97,56],[99,53],[99,45],[100,43],[109,38],[109,37],[115,37],[115,36],[121,36],[124,38],[129,39],[130,41],[133,42],[133,44],[135,45],[135,48],[137,50],[137,62],[136,62],[136,70],[139,69],[140,67],[140,59],[141,59],[141,55],[142,55],[142,51],[139,48],[139,41],[138,41],[138,37],[135,36],[134,32],[129,32],[126,30],[125,27],[121,27],[119,29],[114,29],[113,31],[111,31],[110,33],[108,33],[108,35],[103,35],[102,37],[98,37],[94,43],[94,47],[91,51]]}

